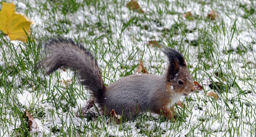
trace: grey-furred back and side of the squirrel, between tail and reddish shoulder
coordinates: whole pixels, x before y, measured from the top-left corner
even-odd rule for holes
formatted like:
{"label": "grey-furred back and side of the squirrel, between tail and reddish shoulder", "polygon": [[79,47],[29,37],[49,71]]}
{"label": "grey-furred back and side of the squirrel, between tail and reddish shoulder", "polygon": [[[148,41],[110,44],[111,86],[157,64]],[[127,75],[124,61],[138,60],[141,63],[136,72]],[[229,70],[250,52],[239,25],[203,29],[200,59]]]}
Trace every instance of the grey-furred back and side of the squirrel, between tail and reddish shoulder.
{"label": "grey-furred back and side of the squirrel, between tail and reddish shoulder", "polygon": [[164,93],[166,91],[164,81],[164,77],[151,74],[123,77],[108,86],[106,109],[114,109],[119,115],[123,113],[124,118],[127,119],[133,119],[133,116],[139,112],[151,111],[152,108],[159,106],[158,102],[162,97],[168,96],[168,93]]}

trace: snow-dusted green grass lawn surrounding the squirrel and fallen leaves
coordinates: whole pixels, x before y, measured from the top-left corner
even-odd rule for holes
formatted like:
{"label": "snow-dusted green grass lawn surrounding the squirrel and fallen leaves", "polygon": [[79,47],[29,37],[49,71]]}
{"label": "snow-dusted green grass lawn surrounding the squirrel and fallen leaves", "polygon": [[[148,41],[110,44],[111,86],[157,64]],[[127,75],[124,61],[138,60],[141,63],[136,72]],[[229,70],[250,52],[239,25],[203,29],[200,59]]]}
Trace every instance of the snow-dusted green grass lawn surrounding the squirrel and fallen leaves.
{"label": "snow-dusted green grass lawn surrounding the squirrel and fallen leaves", "polygon": [[[125,0],[19,0],[33,41],[10,42],[0,32],[0,136],[181,136],[254,137],[256,135],[256,3],[243,0],[139,0],[145,14],[129,10]],[[1,3],[2,4],[2,3]],[[1,8],[0,4],[0,8]],[[230,6],[233,5],[233,6]],[[219,14],[207,18],[209,10]],[[193,18],[183,18],[191,11]],[[106,85],[134,74],[139,60],[152,74],[162,75],[167,57],[158,41],[185,56],[194,81],[204,89],[176,106],[176,122],[153,113],[134,121],[107,124],[76,117],[90,98],[77,76],[67,69],[50,76],[38,69],[41,42],[52,37],[81,42],[97,58]],[[66,82],[65,82],[66,81]],[[210,91],[219,99],[208,97]],[[29,131],[28,111],[38,129]]]}

